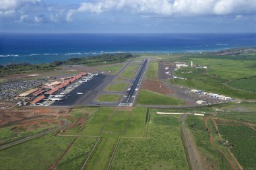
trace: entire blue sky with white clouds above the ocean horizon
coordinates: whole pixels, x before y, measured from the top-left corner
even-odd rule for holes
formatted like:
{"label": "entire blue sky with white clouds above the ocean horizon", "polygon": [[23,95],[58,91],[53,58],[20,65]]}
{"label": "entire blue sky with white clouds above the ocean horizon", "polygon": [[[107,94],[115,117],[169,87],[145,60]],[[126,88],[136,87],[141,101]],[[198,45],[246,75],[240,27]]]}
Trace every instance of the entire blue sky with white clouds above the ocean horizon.
{"label": "entire blue sky with white clouds above the ocean horizon", "polygon": [[256,0],[0,0],[0,32],[256,33]]}

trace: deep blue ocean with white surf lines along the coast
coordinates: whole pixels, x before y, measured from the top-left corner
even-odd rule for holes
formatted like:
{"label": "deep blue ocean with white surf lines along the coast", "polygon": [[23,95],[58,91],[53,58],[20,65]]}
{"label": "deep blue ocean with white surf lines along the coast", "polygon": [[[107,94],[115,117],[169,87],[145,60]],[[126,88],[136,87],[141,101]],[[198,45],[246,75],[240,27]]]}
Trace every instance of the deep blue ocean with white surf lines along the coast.
{"label": "deep blue ocean with white surf lines along the coast", "polygon": [[103,53],[176,53],[256,46],[256,34],[0,34],[0,65]]}

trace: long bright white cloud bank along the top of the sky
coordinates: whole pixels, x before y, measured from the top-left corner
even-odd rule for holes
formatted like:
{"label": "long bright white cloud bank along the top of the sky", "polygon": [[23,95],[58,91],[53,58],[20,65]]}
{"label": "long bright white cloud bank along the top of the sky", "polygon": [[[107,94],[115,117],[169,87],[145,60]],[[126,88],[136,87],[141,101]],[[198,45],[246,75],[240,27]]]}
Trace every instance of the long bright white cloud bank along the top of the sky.
{"label": "long bright white cloud bank along the top of the sky", "polygon": [[67,21],[78,12],[126,11],[141,15],[239,15],[255,13],[255,0],[98,0],[70,9]]}

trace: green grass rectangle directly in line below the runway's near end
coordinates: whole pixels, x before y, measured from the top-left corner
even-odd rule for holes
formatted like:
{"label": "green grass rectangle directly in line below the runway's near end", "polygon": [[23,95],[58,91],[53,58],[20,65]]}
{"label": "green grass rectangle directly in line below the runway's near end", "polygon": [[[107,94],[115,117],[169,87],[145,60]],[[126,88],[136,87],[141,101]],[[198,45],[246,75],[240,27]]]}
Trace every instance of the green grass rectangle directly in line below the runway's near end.
{"label": "green grass rectangle directly in line below the runway's near end", "polygon": [[129,121],[131,112],[115,111],[102,130],[102,134],[122,134],[124,133],[127,121]]}

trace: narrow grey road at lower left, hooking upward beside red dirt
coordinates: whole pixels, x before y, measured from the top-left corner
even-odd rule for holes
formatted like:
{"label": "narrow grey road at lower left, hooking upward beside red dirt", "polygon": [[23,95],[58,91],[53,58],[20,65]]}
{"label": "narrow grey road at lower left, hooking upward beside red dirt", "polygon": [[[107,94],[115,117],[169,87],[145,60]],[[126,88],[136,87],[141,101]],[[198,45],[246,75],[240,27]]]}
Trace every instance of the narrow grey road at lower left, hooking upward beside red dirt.
{"label": "narrow grey road at lower left, hooking upward beside red dirt", "polygon": [[45,134],[49,134],[50,132],[54,132],[54,131],[56,131],[56,130],[61,130],[62,128],[64,128],[64,127],[67,126],[67,124],[68,124],[68,121],[67,121],[67,120],[63,120],[63,121],[64,121],[63,126],[60,126],[59,128],[54,128],[54,129],[46,130],[45,132],[42,132],[42,133],[39,133],[39,134],[34,134],[34,135],[32,135],[32,136],[28,136],[28,137],[26,137],[26,138],[22,138],[22,139],[20,139],[20,140],[16,140],[16,141],[11,142],[11,143],[1,145],[1,146],[0,146],[0,149],[8,148],[8,147],[13,146],[13,145],[15,145],[15,144],[20,144],[20,143],[22,143],[22,142],[26,142],[27,140],[30,140],[30,139],[32,139],[32,138],[38,138],[38,137],[40,137],[40,136],[44,136]]}

